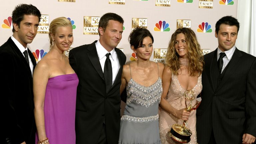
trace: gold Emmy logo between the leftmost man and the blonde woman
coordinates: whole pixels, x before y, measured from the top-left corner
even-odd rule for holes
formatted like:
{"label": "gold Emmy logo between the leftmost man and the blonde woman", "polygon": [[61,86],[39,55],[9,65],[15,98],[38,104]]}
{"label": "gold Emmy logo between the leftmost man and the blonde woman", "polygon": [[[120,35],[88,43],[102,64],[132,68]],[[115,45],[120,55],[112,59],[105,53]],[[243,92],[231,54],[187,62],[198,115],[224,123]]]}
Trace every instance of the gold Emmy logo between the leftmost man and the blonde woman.
{"label": "gold Emmy logo between the leftmost man and the blonde woman", "polygon": [[41,15],[37,33],[49,33],[49,15]]}

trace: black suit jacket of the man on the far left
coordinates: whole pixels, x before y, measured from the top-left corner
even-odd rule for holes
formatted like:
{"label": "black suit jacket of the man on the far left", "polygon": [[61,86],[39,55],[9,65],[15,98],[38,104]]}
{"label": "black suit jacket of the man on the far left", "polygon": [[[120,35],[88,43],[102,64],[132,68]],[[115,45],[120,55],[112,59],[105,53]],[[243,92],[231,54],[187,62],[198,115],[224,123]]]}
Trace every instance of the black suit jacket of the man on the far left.
{"label": "black suit jacket of the man on the far left", "polygon": [[[36,60],[28,49],[33,62]],[[0,47],[1,141],[35,143],[33,84],[30,67],[11,38]]]}

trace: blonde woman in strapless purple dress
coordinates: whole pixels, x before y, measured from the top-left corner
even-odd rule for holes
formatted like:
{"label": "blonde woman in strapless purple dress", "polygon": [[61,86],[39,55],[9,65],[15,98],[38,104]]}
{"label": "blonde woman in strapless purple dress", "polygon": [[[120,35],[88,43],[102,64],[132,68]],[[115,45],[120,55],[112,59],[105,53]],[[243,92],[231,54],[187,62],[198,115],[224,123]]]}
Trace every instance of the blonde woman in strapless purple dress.
{"label": "blonde woman in strapless purple dress", "polygon": [[78,77],[63,53],[73,43],[71,22],[54,19],[49,27],[50,51],[33,74],[36,143],[75,144]]}

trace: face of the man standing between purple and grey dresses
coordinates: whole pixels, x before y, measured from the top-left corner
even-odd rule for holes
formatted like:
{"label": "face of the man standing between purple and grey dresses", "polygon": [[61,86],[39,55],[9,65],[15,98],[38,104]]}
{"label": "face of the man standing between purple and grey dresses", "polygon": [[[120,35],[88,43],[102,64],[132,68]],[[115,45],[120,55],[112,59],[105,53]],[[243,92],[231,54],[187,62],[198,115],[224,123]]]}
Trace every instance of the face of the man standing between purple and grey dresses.
{"label": "face of the man standing between purple and grey dresses", "polygon": [[123,24],[118,21],[109,20],[108,26],[106,27],[105,31],[102,27],[99,27],[99,33],[100,44],[108,52],[110,52],[118,45],[118,43],[122,39]]}

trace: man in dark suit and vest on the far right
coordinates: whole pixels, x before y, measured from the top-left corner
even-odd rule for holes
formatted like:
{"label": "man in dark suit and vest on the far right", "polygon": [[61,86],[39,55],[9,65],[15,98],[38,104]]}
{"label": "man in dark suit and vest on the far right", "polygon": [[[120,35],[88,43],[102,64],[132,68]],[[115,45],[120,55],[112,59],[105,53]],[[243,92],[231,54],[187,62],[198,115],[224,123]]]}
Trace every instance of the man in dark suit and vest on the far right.
{"label": "man in dark suit and vest on the far right", "polygon": [[204,56],[202,102],[196,112],[199,144],[251,144],[256,136],[256,58],[235,46],[239,22],[222,17],[218,48]]}

